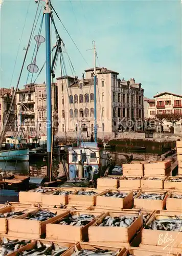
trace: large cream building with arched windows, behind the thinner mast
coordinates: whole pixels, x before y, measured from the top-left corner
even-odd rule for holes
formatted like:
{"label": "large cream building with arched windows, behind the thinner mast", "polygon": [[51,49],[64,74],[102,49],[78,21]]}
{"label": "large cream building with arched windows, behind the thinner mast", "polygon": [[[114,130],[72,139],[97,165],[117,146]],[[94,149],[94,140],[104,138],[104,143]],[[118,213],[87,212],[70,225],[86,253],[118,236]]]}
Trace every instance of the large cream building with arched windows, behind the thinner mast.
{"label": "large cream building with arched windows, behind the thinner mast", "polygon": [[[85,70],[82,79],[63,76],[57,78],[59,132],[94,131],[94,69]],[[96,68],[98,132],[117,132],[122,120],[144,117],[141,83],[134,78],[125,81],[119,73]]]}

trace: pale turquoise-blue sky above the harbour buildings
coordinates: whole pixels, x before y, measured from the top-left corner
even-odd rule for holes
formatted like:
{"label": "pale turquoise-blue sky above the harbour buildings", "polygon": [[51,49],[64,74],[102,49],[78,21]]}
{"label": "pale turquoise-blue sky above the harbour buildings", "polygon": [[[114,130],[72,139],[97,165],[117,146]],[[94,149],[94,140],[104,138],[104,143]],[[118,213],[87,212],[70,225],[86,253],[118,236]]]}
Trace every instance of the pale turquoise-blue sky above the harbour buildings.
{"label": "pale turquoise-blue sky above the harbour buildings", "polygon": [[[55,17],[75,75],[81,77],[85,69],[93,67],[93,52],[86,50],[92,48],[92,41],[95,40],[99,58],[97,66],[119,72],[120,78],[134,77],[136,82],[142,83],[146,97],[164,91],[182,94],[180,0],[52,0],[52,4],[86,59],[85,62]],[[36,8],[34,0],[4,0],[1,7],[0,87],[15,87],[17,83],[25,55],[23,48],[28,44]],[[38,33],[39,24],[40,20],[34,35]],[[44,36],[44,27],[41,34]],[[54,38],[52,42],[55,44]],[[26,67],[31,62],[34,45],[35,40],[29,51],[20,88],[27,81]],[[44,49],[45,43],[40,46],[37,55],[39,68],[45,60]],[[67,59],[66,55],[64,58]],[[67,74],[72,75],[69,65],[66,68]],[[60,76],[59,69],[56,76]],[[42,73],[37,82],[44,80],[45,74]]]}

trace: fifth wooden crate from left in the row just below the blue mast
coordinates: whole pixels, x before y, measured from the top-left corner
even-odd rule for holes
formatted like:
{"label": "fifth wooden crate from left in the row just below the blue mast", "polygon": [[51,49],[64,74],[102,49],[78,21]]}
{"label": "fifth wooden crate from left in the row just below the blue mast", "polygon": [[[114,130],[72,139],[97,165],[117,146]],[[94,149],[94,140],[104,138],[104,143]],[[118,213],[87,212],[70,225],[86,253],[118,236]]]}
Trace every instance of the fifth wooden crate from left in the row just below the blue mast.
{"label": "fifth wooden crate from left in the row just below the blue mast", "polygon": [[[141,193],[145,193],[145,194],[151,194],[151,193],[164,194],[164,193],[166,193],[166,195],[165,195],[165,198],[163,200],[142,199],[142,198],[138,198],[141,195]],[[138,196],[134,198],[134,208],[138,208],[138,209],[151,209],[151,210],[165,209],[167,197],[168,197],[168,192],[165,191],[165,190],[163,190],[163,191],[142,190],[142,191],[140,191]]]}

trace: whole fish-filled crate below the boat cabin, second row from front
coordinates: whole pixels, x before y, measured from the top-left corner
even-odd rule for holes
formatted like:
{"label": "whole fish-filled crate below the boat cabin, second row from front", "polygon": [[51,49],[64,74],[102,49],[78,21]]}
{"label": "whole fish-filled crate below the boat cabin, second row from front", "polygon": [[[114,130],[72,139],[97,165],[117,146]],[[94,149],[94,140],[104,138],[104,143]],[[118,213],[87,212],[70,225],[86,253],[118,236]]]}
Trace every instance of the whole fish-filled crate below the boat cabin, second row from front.
{"label": "whole fish-filled crate below the boat cabin, second row from front", "polygon": [[46,225],[46,239],[64,241],[88,241],[88,227],[102,212],[71,211]]}

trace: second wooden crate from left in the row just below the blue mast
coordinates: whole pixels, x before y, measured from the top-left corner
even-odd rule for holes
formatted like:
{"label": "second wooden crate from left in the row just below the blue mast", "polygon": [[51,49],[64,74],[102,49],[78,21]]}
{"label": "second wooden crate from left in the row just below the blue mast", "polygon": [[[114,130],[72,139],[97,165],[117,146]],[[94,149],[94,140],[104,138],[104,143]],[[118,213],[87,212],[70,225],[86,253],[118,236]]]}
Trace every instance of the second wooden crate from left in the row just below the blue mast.
{"label": "second wooden crate from left in the row just below the blue mast", "polygon": [[[58,191],[71,191],[73,194],[76,193],[75,189],[70,188],[62,188],[57,189]],[[66,205],[69,202],[69,195],[53,195],[54,191],[44,194],[41,196],[41,203],[47,204],[49,202],[50,205]]]}

